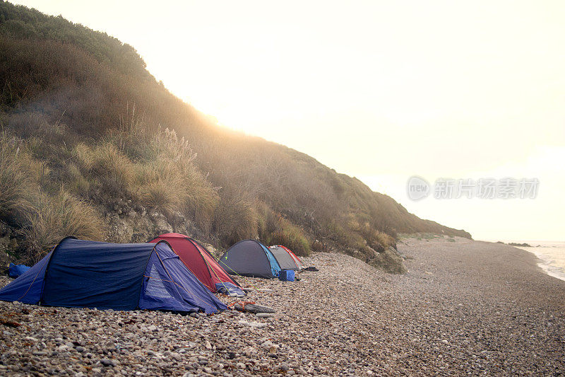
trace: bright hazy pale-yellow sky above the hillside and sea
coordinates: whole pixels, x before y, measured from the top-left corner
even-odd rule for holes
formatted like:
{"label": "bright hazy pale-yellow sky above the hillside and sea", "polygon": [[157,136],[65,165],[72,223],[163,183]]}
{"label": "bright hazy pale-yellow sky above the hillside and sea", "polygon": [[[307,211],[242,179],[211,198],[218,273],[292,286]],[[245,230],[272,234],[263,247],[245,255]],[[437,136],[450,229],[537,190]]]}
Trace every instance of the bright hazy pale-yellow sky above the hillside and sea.
{"label": "bright hazy pale-yellow sky above the hillside and sea", "polygon": [[[138,50],[218,124],[482,240],[565,240],[563,1],[12,1]],[[413,175],[432,195],[413,201]],[[436,199],[537,178],[534,199]]]}

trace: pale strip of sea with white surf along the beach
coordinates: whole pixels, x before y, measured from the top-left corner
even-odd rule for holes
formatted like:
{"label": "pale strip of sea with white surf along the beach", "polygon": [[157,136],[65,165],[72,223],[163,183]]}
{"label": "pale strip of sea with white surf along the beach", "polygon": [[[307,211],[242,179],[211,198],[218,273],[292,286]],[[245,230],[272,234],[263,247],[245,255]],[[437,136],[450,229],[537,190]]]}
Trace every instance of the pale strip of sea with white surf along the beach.
{"label": "pale strip of sea with white surf along the beach", "polygon": [[526,250],[540,259],[537,263],[548,275],[565,280],[565,242],[547,241],[515,241],[516,243],[528,243],[531,248],[516,246]]}

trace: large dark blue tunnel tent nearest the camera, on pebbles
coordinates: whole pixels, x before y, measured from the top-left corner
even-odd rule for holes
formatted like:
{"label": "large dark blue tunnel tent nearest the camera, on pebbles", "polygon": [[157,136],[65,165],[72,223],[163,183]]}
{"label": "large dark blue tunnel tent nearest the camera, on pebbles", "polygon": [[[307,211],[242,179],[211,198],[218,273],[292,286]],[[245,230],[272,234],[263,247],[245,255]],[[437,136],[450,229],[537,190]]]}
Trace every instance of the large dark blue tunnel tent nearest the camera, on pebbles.
{"label": "large dark blue tunnel tent nearest the camera, on pebbles", "polygon": [[104,243],[64,238],[3,289],[0,300],[131,311],[204,311],[227,306],[206,289],[166,241]]}

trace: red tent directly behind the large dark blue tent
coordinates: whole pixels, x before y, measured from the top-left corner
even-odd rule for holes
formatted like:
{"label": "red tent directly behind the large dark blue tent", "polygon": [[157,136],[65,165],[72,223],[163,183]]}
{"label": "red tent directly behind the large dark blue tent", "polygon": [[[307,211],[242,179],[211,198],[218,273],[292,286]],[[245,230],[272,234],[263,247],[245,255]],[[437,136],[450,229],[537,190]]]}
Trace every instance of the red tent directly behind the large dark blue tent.
{"label": "red tent directly behind the large dark blue tent", "polygon": [[[149,242],[166,240],[184,265],[213,293],[244,295],[241,287],[198,241],[179,233],[165,233]],[[233,296],[233,295],[232,295]]]}

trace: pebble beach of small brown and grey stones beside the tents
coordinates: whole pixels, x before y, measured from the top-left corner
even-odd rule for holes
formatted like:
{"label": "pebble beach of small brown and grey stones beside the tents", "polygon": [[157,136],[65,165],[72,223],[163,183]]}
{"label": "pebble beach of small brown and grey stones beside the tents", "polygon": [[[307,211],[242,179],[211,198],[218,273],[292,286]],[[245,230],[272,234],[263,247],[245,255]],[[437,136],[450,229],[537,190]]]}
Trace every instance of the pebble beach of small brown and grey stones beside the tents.
{"label": "pebble beach of small brown and grey stones beside the tents", "polygon": [[[249,279],[275,318],[43,308],[0,301],[0,375],[565,373],[565,282],[508,245],[399,244],[408,274],[307,258],[301,282]],[[8,280],[0,279],[0,285]],[[242,283],[245,283],[242,281]],[[225,300],[229,301],[229,300]]]}

